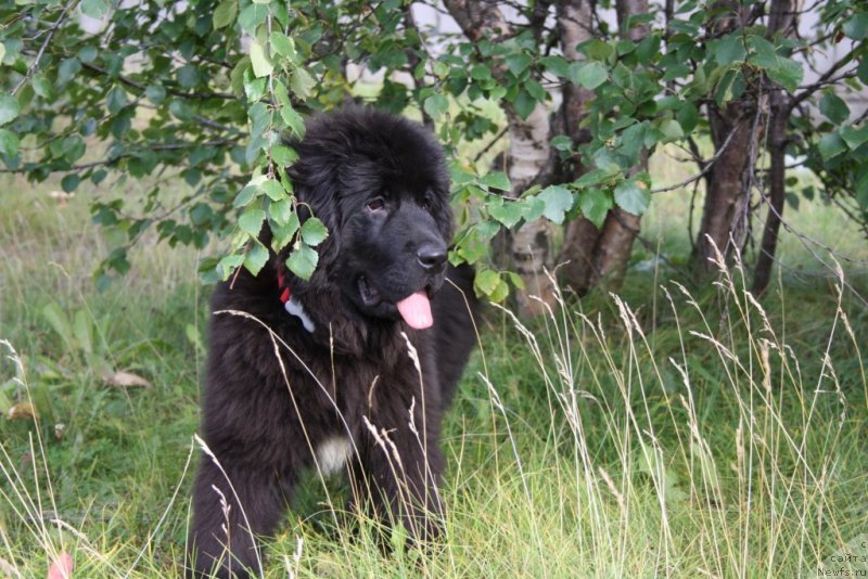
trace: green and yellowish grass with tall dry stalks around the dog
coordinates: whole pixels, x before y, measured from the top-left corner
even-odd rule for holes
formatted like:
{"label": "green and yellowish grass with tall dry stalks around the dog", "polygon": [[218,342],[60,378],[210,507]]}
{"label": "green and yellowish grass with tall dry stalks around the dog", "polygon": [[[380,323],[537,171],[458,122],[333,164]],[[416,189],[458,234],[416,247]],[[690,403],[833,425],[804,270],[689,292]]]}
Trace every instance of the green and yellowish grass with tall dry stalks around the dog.
{"label": "green and yellowish grass with tall dry stalks around the dog", "polygon": [[[196,255],[149,241],[97,293],[88,200],[2,189],[0,411],[18,417],[0,420],[0,576],[44,577],[62,551],[76,577],[180,576],[207,320]],[[644,235],[677,265],[688,208],[652,207]],[[818,203],[792,217],[843,244],[866,295],[865,240]],[[868,555],[868,309],[799,240],[782,252],[793,269],[762,304],[739,270],[686,290],[637,248],[620,297],[567,296],[527,327],[490,308],[445,429],[448,538],[384,556],[372,522],[335,525],[340,478],[311,476],[267,577],[868,576],[833,558]],[[117,371],[149,385],[114,386]]]}

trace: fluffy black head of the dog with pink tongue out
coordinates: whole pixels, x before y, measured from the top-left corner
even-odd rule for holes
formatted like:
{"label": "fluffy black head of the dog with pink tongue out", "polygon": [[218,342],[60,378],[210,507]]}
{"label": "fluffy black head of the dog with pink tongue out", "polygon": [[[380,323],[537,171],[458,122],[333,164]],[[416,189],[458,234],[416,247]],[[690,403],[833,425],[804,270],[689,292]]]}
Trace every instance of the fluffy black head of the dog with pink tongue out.
{"label": "fluffy black head of the dog with pink tongue out", "polygon": [[443,151],[422,126],[363,108],[308,124],[291,169],[297,200],[329,228],[319,282],[361,314],[432,323],[452,234]]}

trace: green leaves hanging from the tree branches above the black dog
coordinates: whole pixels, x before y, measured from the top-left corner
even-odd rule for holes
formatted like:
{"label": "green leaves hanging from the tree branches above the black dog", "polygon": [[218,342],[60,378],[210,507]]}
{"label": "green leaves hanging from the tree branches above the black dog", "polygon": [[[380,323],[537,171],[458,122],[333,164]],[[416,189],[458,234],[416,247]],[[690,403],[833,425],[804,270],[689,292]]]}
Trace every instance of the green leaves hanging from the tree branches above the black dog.
{"label": "green leaves hanging from the tree branches above the black dog", "polygon": [[[501,227],[578,215],[599,226],[614,206],[644,213],[665,183],[628,172],[642,151],[701,137],[710,102],[781,87],[821,114],[794,110],[791,154],[818,176],[821,194],[866,222],[868,128],[861,117],[851,120],[840,97],[868,82],[866,3],[822,3],[816,36],[805,39],[770,37],[762,24],[715,34],[727,5],[678,2],[667,23],[658,11],[633,17],[627,28],[648,30],[638,42],[601,20],[599,35],[579,47],[582,60],[571,62],[552,49],[554,28],[535,36],[518,26],[506,40],[469,41],[420,29],[400,0],[3,0],[0,160],[34,182],[60,173],[64,191],[97,193],[92,217],[114,240],[97,272],[101,287],[128,271],[128,249],[151,229],[171,245],[228,240],[222,257],[201,263],[206,279],[226,279],[240,266],[257,271],[268,255],[257,240],[266,220],[273,248],[293,244],[290,267],[307,276],[326,232],[317,222],[299,230],[284,172],[295,152],[284,138],[303,137],[305,115],[359,94],[361,73],[379,73],[370,104],[422,116],[455,154],[462,229],[452,260],[480,262]],[[531,18],[534,8],[516,10]],[[841,42],[852,49],[846,56],[805,85],[805,64]],[[584,121],[590,139],[556,134],[551,144],[562,162],[587,172],[505,197],[509,180],[461,152],[496,137],[493,105],[527,116],[564,83],[596,95]],[[132,184],[145,178],[144,190]],[[171,179],[182,179],[190,193],[166,194]],[[800,192],[810,196],[816,188]],[[789,198],[797,203],[795,192]],[[500,299],[508,281],[519,283],[487,267],[480,293]]]}

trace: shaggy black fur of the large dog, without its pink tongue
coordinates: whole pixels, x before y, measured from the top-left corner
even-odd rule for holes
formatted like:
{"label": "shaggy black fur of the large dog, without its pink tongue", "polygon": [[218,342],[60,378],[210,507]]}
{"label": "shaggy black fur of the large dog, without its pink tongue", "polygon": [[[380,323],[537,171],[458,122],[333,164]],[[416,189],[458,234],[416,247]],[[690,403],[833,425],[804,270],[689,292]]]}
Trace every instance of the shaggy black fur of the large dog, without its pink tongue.
{"label": "shaggy black fur of the large dog, without its pink tongue", "polygon": [[[436,533],[442,515],[441,417],[472,349],[475,303],[472,270],[445,261],[452,217],[441,146],[420,125],[363,108],[320,116],[292,144],[295,195],[330,235],[309,281],[285,268],[286,248],[214,295],[202,436],[226,476],[203,456],[189,541],[196,577],[258,571],[252,533],[275,531],[333,437],[353,448],[353,505],[417,539]],[[279,275],[312,333],[284,310]],[[420,290],[434,325],[412,330],[395,304]]]}

